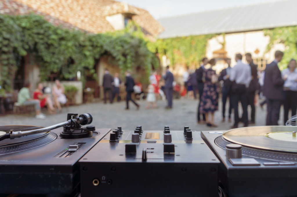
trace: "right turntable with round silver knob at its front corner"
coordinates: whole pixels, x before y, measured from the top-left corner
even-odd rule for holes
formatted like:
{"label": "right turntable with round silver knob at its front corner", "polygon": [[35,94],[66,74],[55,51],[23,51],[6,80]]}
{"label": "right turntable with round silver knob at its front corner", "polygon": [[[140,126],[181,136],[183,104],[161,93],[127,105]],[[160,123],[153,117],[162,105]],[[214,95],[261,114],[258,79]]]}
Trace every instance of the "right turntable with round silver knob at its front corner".
{"label": "right turntable with round silver knob at its front corner", "polygon": [[219,179],[230,197],[297,195],[297,127],[202,131],[221,160]]}

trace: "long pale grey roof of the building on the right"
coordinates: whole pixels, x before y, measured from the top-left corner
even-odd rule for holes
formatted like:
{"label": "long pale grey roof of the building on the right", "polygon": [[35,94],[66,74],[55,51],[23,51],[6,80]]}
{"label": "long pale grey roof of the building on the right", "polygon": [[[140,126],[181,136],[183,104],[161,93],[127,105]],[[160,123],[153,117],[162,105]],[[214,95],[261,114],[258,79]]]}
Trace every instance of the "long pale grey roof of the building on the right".
{"label": "long pale grey roof of the building on the right", "polygon": [[160,18],[159,38],[255,31],[297,25],[297,0],[271,1]]}

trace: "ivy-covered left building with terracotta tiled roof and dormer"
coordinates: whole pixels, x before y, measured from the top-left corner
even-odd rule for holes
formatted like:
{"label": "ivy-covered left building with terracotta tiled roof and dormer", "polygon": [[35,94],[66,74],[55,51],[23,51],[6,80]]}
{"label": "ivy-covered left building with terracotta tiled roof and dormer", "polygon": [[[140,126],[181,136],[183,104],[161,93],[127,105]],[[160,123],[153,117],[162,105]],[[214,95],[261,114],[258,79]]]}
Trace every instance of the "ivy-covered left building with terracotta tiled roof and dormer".
{"label": "ivy-covered left building with terracotta tiled roof and dormer", "polygon": [[[34,12],[44,16],[45,20],[56,26],[86,31],[89,33],[104,33],[124,29],[129,21],[140,26],[143,33],[154,41],[163,27],[147,10],[113,0],[3,0],[0,1],[0,14],[25,15]],[[30,55],[23,57],[23,65],[19,73],[20,81],[30,79],[35,85],[38,81],[39,68]],[[120,70],[108,63],[108,57],[100,57],[94,68],[98,81],[90,81],[89,86],[97,89],[102,85],[104,68],[111,73]],[[28,72],[30,70],[30,72]]]}

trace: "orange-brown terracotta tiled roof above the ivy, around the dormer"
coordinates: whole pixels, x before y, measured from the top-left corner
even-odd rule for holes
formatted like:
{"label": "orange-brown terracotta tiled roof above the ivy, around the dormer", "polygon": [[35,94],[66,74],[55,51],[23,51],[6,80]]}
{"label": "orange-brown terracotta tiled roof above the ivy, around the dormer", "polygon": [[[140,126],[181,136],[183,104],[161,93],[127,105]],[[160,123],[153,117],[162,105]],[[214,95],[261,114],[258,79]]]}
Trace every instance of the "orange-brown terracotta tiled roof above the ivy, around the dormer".
{"label": "orange-brown terracotta tiled roof above the ivy, around the dormer", "polygon": [[[12,0],[2,0],[12,1]],[[34,12],[58,18],[85,31],[103,33],[114,31],[105,19],[116,13],[136,14],[132,17],[149,35],[157,37],[162,26],[146,10],[113,0],[14,0],[26,5]],[[1,10],[1,7],[0,7]]]}

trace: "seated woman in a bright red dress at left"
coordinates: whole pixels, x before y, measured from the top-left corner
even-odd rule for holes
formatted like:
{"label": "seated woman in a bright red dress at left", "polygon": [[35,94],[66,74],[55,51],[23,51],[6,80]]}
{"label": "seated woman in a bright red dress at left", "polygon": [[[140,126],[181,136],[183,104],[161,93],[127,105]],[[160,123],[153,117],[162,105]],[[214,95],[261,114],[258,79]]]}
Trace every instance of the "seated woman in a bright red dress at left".
{"label": "seated woman in a bright red dress at left", "polygon": [[56,110],[53,107],[53,102],[50,98],[50,95],[49,94],[43,95],[42,89],[43,89],[42,83],[38,83],[37,89],[35,89],[35,91],[33,92],[33,98],[38,99],[40,101],[41,108],[47,105],[49,114],[55,114]]}

